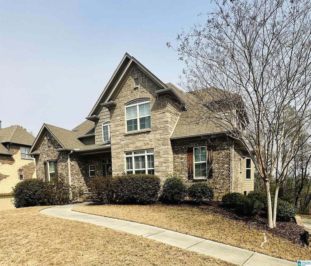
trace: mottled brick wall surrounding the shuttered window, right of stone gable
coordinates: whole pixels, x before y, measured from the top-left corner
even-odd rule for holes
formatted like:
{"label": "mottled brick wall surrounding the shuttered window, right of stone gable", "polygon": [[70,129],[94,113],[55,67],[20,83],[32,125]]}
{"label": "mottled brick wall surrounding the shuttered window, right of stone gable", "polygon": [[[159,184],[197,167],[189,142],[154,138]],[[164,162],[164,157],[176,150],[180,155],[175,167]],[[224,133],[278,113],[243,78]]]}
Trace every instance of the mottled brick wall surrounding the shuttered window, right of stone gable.
{"label": "mottled brick wall surrounding the shuttered window, right of stone gable", "polygon": [[[188,180],[188,147],[212,145],[213,150],[213,177],[205,181]],[[231,151],[232,142],[227,138],[205,140],[189,140],[173,142],[174,172],[183,178],[187,186],[194,182],[207,182],[214,189],[214,199],[231,192]]]}

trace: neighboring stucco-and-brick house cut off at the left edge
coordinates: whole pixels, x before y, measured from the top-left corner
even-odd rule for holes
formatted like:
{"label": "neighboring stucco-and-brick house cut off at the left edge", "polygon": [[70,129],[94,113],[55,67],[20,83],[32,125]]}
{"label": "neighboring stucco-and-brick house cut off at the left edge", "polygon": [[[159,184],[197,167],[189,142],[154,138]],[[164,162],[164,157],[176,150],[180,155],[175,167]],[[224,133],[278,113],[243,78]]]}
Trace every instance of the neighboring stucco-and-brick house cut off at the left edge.
{"label": "neighboring stucco-and-brick house cut off at the left edge", "polygon": [[13,208],[12,187],[36,178],[35,160],[27,153],[35,137],[20,126],[0,128],[0,210]]}

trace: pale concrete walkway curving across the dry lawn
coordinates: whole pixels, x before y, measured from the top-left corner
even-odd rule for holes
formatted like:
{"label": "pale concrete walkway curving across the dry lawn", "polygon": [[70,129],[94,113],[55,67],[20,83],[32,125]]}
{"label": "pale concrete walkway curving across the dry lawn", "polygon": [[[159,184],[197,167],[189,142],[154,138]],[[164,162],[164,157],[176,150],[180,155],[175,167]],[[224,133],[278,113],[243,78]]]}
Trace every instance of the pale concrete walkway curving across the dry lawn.
{"label": "pale concrete walkway curving across the dry lawn", "polygon": [[[93,214],[74,212],[71,209],[77,206],[86,205],[88,202],[56,206],[43,209],[40,213],[56,216],[59,218],[90,222],[96,225],[105,226],[128,232],[131,234],[144,236],[169,245],[177,246],[187,250],[202,253],[214,258],[223,259],[231,263],[245,266],[285,266],[297,265],[296,262],[277,259],[257,252],[244,250],[230,245],[206,240],[203,238],[189,236],[186,234],[166,230],[137,222],[129,222],[114,218],[108,218]],[[303,259],[303,258],[302,258]]]}

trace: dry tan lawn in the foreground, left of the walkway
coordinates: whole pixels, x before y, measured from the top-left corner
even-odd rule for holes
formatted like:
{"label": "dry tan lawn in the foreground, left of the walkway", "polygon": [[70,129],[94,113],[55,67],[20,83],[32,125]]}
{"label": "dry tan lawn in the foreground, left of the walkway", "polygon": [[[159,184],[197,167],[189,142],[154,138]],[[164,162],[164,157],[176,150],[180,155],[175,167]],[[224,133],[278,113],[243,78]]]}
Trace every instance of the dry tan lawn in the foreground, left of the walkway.
{"label": "dry tan lawn in the foreground, left of the walkway", "polygon": [[234,265],[44,208],[0,212],[0,265]]}

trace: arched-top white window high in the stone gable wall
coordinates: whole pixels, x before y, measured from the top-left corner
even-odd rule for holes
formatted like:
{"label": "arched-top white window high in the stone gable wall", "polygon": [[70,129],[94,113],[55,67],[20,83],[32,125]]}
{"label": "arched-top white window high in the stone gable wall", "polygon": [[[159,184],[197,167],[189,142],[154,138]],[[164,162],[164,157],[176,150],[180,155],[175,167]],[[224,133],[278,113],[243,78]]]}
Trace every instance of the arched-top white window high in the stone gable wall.
{"label": "arched-top white window high in the stone gable wall", "polygon": [[151,128],[149,99],[128,103],[125,109],[127,132]]}

